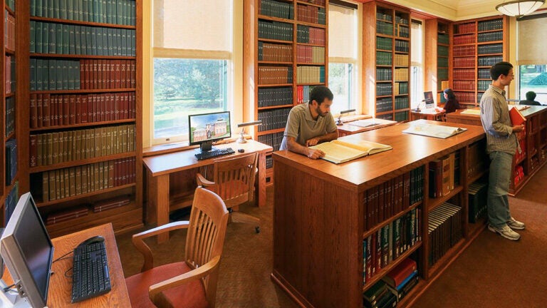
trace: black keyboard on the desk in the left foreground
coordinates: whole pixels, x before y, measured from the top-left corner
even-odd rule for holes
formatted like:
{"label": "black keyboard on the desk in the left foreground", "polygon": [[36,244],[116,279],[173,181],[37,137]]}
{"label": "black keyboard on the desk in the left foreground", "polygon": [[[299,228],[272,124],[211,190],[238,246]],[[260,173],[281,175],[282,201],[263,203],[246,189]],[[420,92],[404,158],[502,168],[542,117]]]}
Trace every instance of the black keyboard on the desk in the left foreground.
{"label": "black keyboard on the desk in the left foreground", "polygon": [[72,300],[80,302],[110,292],[110,274],[103,237],[92,237],[74,249]]}

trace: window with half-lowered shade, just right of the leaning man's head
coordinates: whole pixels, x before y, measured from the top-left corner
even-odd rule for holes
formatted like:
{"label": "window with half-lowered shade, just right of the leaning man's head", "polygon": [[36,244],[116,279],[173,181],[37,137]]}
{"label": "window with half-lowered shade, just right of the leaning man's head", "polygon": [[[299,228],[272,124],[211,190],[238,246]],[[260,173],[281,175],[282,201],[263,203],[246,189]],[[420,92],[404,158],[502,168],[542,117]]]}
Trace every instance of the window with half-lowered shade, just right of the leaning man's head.
{"label": "window with half-lowered shade, just right of the leaning man's head", "polygon": [[356,85],[361,15],[358,5],[350,2],[330,1],[328,6],[328,87],[334,94],[333,115],[360,108]]}

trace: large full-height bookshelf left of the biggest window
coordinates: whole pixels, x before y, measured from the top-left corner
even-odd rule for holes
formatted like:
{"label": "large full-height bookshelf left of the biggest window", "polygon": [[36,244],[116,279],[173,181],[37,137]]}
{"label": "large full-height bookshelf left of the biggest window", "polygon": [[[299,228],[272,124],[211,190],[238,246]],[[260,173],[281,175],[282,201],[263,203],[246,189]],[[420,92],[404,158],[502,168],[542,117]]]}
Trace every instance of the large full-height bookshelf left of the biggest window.
{"label": "large full-height bookshelf left of the biggest window", "polygon": [[[31,2],[17,29],[20,190],[52,237],[105,222],[141,227],[141,2]],[[109,201],[118,206],[94,210]]]}

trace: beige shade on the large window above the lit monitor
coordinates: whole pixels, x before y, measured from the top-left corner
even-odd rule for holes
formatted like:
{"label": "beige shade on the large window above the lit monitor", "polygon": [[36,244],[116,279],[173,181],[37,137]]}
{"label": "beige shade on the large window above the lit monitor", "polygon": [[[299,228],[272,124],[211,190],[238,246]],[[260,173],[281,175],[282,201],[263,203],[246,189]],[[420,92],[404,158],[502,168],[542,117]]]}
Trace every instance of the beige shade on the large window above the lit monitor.
{"label": "beige shade on the large window above the lit monitor", "polygon": [[154,0],[155,48],[231,51],[233,1]]}

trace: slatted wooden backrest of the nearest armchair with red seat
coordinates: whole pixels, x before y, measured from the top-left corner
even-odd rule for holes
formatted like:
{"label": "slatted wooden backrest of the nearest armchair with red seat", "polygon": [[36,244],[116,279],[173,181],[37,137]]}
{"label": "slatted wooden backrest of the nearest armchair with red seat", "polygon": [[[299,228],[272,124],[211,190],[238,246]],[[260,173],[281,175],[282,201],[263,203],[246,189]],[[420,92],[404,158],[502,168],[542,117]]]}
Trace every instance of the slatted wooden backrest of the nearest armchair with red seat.
{"label": "slatted wooden backrest of the nearest armchair with red seat", "polygon": [[[204,188],[196,189],[184,254],[189,266],[196,268],[222,255],[228,215],[218,195]],[[206,287],[209,278],[205,280]]]}

